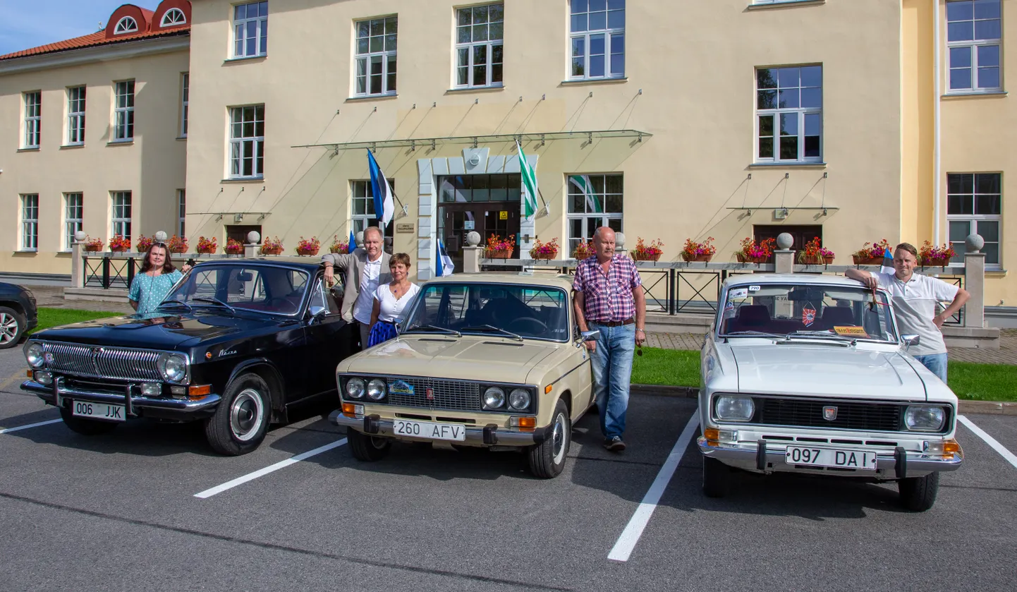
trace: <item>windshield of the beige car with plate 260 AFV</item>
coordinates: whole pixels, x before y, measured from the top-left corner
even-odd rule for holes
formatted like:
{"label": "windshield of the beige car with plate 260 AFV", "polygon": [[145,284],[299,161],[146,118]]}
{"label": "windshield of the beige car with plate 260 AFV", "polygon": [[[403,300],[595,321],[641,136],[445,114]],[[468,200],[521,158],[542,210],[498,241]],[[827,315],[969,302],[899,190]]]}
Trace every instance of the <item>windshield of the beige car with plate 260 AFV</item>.
{"label": "windshield of the beige car with plate 260 AFV", "polygon": [[490,335],[569,340],[564,290],[513,284],[436,283],[424,286],[403,333]]}

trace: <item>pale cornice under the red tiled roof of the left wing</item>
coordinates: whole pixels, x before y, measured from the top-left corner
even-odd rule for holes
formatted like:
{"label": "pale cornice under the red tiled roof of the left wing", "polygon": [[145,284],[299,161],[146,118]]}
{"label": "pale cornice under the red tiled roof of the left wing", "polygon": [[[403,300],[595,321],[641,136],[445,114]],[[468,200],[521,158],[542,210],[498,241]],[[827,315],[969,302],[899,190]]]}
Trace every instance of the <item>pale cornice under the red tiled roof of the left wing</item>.
{"label": "pale cornice under the red tiled roof of the left wing", "polygon": [[177,35],[159,39],[142,39],[122,44],[111,44],[67,50],[38,56],[10,58],[0,61],[0,75],[14,74],[77,66],[95,62],[125,60],[141,56],[183,51],[190,48],[190,35]]}

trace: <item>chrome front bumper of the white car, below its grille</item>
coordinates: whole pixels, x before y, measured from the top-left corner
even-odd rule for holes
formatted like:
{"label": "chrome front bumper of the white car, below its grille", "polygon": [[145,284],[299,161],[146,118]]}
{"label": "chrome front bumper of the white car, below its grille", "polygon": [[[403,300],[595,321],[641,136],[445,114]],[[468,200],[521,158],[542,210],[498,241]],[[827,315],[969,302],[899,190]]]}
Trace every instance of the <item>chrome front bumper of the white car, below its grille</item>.
{"label": "chrome front bumper of the white car, below its grille", "polygon": [[[813,473],[826,472],[822,467],[805,468],[800,465],[788,464],[784,460],[786,443],[766,442],[766,447],[760,450],[760,445],[755,442],[721,442],[710,446],[705,437],[700,436],[700,452],[703,456],[717,459],[727,466],[752,471],[756,473],[771,472],[801,472]],[[802,442],[805,443],[805,442]],[[810,445],[812,446],[812,445]],[[833,448],[826,446],[823,448]],[[837,447],[838,450],[850,450],[852,447]],[[863,447],[862,447],[863,448]],[[879,454],[876,461],[875,471],[840,471],[829,472],[830,475],[856,476],[856,477],[878,477],[881,479],[903,479],[904,477],[920,477],[937,471],[954,471],[964,460],[964,452],[953,455],[951,459],[941,456],[926,455],[924,453],[905,451],[898,448],[895,452]]]}

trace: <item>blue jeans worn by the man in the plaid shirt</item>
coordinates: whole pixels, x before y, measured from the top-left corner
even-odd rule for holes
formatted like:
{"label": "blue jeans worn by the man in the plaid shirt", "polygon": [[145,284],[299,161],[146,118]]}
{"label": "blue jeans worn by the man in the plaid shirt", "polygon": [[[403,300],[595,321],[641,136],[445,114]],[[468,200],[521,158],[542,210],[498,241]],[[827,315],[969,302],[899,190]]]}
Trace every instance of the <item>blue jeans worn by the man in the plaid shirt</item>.
{"label": "blue jeans worn by the man in the plaid shirt", "polygon": [[590,329],[600,330],[597,349],[590,356],[593,394],[600,411],[600,431],[607,438],[620,437],[625,431],[625,411],[629,409],[636,324],[605,327],[591,322]]}

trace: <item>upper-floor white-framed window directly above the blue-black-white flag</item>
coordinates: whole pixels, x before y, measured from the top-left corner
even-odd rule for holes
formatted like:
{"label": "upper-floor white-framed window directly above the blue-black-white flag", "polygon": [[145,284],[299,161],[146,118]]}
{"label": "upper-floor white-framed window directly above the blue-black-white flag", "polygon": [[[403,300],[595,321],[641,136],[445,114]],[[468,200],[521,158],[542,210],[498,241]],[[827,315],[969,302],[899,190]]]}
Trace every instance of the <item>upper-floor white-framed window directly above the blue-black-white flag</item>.
{"label": "upper-floor white-framed window directly above the blue-black-white flag", "polygon": [[396,94],[397,17],[358,20],[357,97]]}

